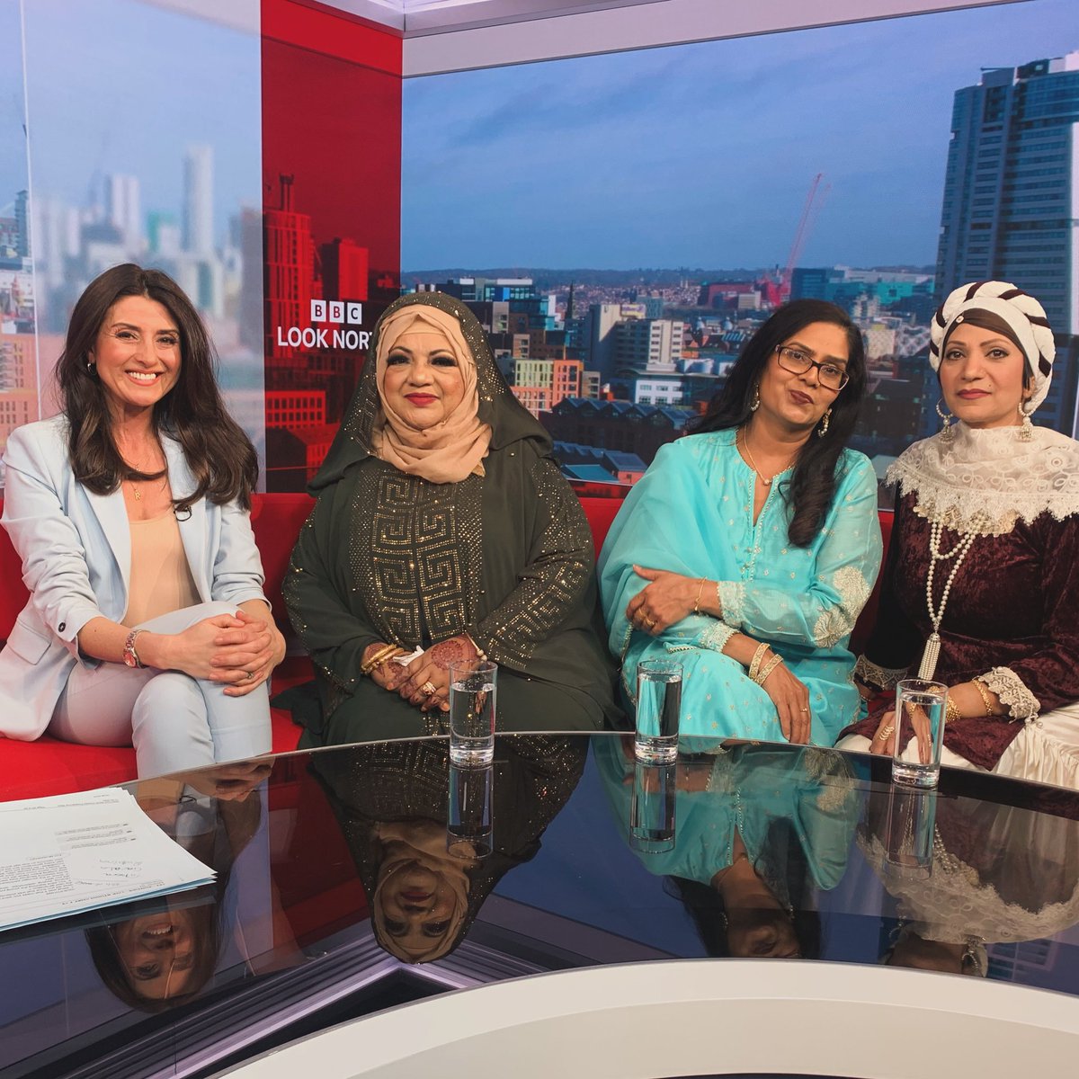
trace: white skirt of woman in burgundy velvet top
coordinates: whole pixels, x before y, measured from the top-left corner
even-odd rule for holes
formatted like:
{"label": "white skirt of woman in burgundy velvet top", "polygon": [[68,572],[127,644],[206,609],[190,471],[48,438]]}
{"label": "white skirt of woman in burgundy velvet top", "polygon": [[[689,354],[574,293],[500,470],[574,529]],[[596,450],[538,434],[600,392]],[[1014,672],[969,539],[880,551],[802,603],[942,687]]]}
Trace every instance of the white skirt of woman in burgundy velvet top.
{"label": "white skirt of woman in burgundy velvet top", "polygon": [[[836,742],[835,748],[868,753],[870,740],[862,735],[847,735]],[[913,761],[916,760],[915,753],[912,739],[903,756],[910,754]],[[953,753],[947,746],[941,747],[941,764],[1079,790],[1079,701],[1064,705],[1025,724],[994,768],[971,764],[965,756]]]}

